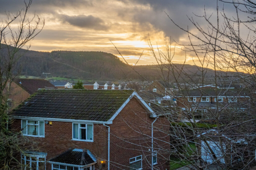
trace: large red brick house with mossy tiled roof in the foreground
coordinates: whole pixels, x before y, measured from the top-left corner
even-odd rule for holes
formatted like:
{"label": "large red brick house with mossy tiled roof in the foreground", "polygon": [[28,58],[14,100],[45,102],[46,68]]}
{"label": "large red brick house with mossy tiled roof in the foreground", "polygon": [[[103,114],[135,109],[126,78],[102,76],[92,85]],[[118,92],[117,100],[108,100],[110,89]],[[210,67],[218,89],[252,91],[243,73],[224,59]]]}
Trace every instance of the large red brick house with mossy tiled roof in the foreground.
{"label": "large red brick house with mossy tiled roof in the foreground", "polygon": [[28,168],[139,170],[153,164],[166,170],[169,166],[162,150],[170,148],[170,137],[160,130],[168,131],[170,123],[132,90],[38,90],[12,117],[12,128],[43,146],[21,153]]}

